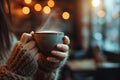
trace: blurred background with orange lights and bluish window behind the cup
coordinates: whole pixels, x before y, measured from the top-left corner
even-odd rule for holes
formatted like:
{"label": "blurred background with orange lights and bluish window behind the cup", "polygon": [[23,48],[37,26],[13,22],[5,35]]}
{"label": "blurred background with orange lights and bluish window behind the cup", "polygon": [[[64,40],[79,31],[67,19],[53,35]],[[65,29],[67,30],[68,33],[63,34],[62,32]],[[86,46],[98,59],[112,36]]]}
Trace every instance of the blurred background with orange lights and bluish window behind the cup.
{"label": "blurred background with orange lights and bluish window behind the cup", "polygon": [[60,80],[120,80],[120,0],[11,0],[10,6],[18,39],[39,30],[70,37]]}

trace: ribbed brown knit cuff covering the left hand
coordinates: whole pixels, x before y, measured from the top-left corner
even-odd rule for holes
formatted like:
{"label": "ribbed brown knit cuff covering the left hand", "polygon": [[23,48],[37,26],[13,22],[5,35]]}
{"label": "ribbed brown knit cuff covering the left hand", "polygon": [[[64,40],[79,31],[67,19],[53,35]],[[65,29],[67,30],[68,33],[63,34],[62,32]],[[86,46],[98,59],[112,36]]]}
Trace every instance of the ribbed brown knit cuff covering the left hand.
{"label": "ribbed brown knit cuff covering the left hand", "polygon": [[37,70],[38,64],[31,54],[18,42],[7,61],[7,67],[16,74],[32,76]]}

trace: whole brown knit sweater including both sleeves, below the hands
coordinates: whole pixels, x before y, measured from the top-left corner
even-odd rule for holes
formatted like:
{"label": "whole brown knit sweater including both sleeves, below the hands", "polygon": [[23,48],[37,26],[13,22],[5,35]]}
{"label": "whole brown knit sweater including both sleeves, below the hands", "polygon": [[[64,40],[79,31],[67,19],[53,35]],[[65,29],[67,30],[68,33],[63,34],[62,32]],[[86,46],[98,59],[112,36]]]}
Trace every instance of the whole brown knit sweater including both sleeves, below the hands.
{"label": "whole brown knit sweater including both sleeves, below the hands", "polygon": [[41,54],[37,65],[29,52],[16,44],[11,54],[0,55],[0,80],[58,80],[60,68],[66,60],[55,64],[48,62],[46,56]]}

